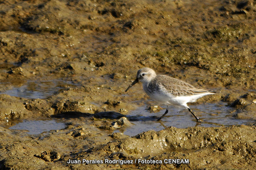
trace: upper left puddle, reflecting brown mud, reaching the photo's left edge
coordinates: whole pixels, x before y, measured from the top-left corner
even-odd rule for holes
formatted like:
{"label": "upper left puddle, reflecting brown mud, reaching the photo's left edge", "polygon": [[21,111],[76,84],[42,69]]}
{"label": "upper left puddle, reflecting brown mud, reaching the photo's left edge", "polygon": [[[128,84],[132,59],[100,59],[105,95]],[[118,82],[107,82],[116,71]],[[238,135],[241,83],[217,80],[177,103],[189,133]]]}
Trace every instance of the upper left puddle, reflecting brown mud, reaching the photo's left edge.
{"label": "upper left puddle, reflecting brown mud, reaching the photo's left edge", "polygon": [[10,96],[22,97],[27,99],[45,99],[67,87],[76,87],[78,84],[65,80],[50,81],[28,81],[20,87],[13,87],[10,90],[0,92]]}

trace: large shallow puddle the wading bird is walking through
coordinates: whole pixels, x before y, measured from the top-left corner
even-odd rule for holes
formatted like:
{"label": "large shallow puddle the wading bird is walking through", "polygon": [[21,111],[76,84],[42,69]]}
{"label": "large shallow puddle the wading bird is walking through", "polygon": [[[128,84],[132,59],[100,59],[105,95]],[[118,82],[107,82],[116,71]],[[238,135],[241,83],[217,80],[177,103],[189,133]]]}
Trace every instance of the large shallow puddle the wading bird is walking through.
{"label": "large shallow puddle the wading bird is walking through", "polygon": [[249,122],[249,120],[236,119],[235,117],[232,117],[231,112],[234,108],[227,107],[224,102],[190,105],[191,110],[195,112],[197,117],[203,120],[200,124],[196,123],[193,115],[186,109],[178,110],[176,108],[169,107],[168,114],[158,122],[156,121],[157,118],[164,114],[165,109],[157,113],[150,113],[146,108],[147,106],[145,104],[143,107],[139,107],[127,115],[127,119],[134,124],[133,126],[125,129],[117,129],[115,132],[122,132],[125,135],[135,136],[144,131],[159,131],[169,126],[176,128],[188,128],[194,126],[217,127],[221,125],[241,125]]}

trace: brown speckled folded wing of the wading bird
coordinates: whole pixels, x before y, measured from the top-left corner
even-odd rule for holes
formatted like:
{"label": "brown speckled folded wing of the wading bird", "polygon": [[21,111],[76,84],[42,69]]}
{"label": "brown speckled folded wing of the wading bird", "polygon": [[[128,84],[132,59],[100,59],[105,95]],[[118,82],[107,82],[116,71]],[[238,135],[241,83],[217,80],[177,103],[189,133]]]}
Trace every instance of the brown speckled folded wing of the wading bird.
{"label": "brown speckled folded wing of the wading bird", "polygon": [[[165,75],[156,76],[156,78],[150,82],[149,86],[150,91],[153,89],[156,89],[157,91],[167,91],[174,96],[190,96],[212,92],[209,89],[196,88],[182,80]],[[161,89],[161,87],[164,87],[164,89]]]}

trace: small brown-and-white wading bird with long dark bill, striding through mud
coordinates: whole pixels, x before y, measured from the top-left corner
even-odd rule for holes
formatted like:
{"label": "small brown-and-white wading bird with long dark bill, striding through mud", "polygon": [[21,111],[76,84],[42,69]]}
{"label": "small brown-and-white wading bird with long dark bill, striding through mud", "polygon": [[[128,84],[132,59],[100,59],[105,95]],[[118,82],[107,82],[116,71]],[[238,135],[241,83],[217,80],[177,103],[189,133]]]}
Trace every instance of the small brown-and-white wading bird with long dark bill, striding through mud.
{"label": "small brown-and-white wading bird with long dark bill, striding through mud", "polygon": [[167,106],[164,115],[157,119],[157,121],[161,120],[168,113],[168,107],[172,105],[185,107],[196,118],[197,122],[201,122],[188,107],[187,103],[195,102],[203,96],[216,93],[209,89],[196,88],[176,78],[156,75],[156,72],[150,68],[138,70],[136,79],[129,85],[125,92],[138,82],[142,83],[143,90],[152,100]]}

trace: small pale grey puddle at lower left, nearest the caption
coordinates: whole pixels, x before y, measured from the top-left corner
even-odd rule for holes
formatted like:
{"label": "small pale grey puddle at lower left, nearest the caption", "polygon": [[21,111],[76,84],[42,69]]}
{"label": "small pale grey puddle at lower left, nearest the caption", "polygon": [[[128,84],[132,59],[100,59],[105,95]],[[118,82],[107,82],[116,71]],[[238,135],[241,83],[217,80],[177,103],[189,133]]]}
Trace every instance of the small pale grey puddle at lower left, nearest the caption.
{"label": "small pale grey puddle at lower left, nearest the caption", "polygon": [[66,123],[56,120],[23,120],[23,122],[17,123],[10,127],[13,130],[27,130],[28,135],[39,135],[43,132],[50,130],[59,130],[66,127]]}

